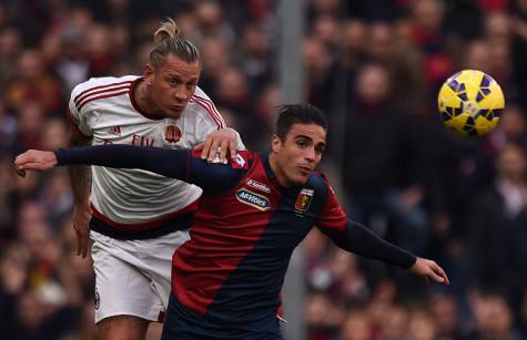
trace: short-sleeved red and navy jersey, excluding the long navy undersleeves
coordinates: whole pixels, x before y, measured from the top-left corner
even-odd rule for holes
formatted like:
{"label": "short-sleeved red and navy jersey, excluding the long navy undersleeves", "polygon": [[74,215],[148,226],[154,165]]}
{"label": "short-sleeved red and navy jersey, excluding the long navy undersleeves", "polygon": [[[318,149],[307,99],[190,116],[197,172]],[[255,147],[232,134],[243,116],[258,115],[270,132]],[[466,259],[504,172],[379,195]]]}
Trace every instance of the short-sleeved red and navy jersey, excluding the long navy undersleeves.
{"label": "short-sleeved red and navy jersey, excluding the long navy undersleeves", "polygon": [[[266,155],[241,152],[229,167],[196,157],[189,163],[188,181],[200,183],[204,194],[191,240],[173,257],[174,293],[204,318],[268,329],[276,323],[294,248],[315,225],[337,235],[346,227],[346,215],[321,174],[283,188]],[[214,181],[204,183],[203,176]]]}

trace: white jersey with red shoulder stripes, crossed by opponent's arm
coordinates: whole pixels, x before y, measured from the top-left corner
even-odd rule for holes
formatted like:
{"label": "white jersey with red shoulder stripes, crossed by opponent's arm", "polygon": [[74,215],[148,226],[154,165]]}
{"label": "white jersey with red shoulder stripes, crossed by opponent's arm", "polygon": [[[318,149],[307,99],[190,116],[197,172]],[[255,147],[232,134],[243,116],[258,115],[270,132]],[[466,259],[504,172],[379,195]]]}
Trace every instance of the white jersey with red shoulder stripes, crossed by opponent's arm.
{"label": "white jersey with red shoulder stripes, crossed by opponent's arm", "polygon": [[[214,104],[199,87],[179,120],[144,116],[132,95],[140,81],[134,75],[95,78],[73,89],[70,119],[82,134],[92,137],[92,145],[192,148],[225,127]],[[92,206],[124,228],[165,220],[194,203],[201,193],[197,186],[146,171],[92,166]]]}

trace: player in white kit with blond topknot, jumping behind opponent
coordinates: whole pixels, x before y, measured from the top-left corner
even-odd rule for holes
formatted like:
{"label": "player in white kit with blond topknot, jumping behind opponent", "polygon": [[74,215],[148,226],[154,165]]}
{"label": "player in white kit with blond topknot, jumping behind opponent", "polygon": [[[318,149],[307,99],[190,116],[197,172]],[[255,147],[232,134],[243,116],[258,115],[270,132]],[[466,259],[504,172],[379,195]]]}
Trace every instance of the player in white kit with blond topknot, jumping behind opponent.
{"label": "player in white kit with blond topknot, jumping behind opponent", "polygon": [[[195,45],[171,19],[154,40],[143,76],[97,78],[73,89],[72,146],[202,147],[211,162],[243,148],[239,134],[225,127],[196,86],[201,64]],[[85,257],[92,240],[101,337],[144,339],[149,323],[162,319],[168,306],[172,254],[189,239],[202,190],[139,169],[70,166],[69,172],[78,255]]]}

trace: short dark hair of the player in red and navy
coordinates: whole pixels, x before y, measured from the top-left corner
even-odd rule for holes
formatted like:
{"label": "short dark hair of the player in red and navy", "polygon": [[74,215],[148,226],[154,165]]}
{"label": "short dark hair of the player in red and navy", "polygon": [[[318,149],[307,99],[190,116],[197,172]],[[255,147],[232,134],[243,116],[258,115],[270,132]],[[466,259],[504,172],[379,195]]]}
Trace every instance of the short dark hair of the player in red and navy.
{"label": "short dark hair of the player in red and navy", "polygon": [[327,131],[327,117],[318,107],[310,104],[280,105],[276,109],[275,133],[285,141],[294,124],[316,124]]}

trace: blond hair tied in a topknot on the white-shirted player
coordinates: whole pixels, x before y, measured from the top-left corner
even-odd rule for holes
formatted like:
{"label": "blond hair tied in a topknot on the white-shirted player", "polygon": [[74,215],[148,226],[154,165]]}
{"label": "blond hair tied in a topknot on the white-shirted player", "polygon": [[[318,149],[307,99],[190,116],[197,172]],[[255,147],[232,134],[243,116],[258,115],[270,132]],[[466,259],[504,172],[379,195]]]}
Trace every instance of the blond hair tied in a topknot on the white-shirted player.
{"label": "blond hair tied in a topknot on the white-shirted player", "polygon": [[161,27],[154,33],[154,42],[155,47],[150,52],[150,63],[154,69],[158,69],[170,53],[188,63],[200,59],[197,48],[181,35],[178,24],[171,18],[161,22]]}

